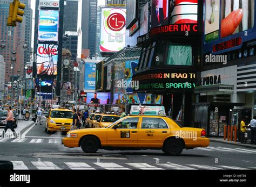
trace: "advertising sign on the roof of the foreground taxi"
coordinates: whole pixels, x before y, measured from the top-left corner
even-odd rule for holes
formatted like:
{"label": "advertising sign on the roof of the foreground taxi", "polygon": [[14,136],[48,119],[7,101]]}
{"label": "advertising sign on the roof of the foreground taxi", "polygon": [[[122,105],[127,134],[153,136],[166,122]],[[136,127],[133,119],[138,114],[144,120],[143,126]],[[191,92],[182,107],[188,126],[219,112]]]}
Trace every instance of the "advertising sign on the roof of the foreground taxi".
{"label": "advertising sign on the roof of the foreground taxi", "polygon": [[166,116],[164,106],[131,106],[130,115]]}

